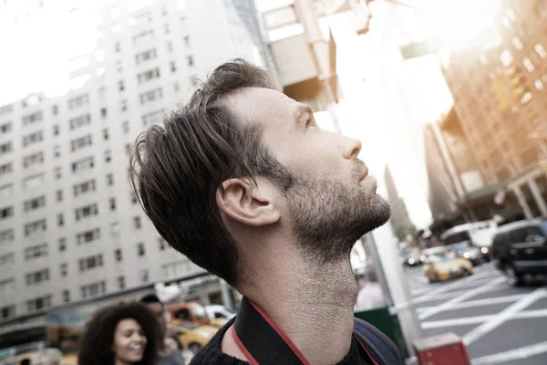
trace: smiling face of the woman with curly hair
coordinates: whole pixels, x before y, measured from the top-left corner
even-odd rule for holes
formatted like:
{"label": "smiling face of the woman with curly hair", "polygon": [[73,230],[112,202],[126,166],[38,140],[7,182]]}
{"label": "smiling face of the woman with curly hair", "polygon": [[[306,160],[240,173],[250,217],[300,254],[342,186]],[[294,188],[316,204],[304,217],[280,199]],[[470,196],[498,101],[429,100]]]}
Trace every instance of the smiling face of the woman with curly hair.
{"label": "smiling face of the woman with curly hair", "polygon": [[114,357],[129,364],[139,362],[146,349],[146,341],[144,331],[135,319],[122,319],[114,332]]}

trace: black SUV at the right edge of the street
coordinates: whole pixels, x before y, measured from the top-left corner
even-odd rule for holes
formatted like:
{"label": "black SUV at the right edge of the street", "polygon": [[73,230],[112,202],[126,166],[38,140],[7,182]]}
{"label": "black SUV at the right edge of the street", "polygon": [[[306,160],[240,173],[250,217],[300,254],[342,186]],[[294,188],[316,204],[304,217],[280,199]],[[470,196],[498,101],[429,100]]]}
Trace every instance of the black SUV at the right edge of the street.
{"label": "black SUV at the right edge of the street", "polygon": [[527,274],[547,274],[547,219],[501,225],[492,243],[492,257],[511,286],[523,284]]}

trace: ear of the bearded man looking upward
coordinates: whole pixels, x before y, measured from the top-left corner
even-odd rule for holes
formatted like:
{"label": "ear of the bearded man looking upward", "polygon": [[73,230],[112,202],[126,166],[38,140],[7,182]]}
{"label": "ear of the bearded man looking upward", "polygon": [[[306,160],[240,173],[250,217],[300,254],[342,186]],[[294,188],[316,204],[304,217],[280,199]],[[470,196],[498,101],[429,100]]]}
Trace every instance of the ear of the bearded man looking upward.
{"label": "ear of the bearded man looking upward", "polygon": [[253,183],[242,179],[230,179],[222,183],[216,192],[216,202],[223,214],[242,224],[260,226],[274,224],[281,216],[274,204],[275,190],[271,184]]}

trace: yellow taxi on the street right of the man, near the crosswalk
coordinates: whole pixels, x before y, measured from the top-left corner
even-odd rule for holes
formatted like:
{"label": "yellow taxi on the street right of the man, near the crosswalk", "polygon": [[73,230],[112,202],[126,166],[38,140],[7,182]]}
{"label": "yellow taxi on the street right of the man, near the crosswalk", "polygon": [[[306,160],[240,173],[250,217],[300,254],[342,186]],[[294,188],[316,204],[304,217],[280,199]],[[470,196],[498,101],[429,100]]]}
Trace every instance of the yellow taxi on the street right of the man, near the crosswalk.
{"label": "yellow taxi on the street right of the man, near the crosswalk", "polygon": [[446,281],[454,277],[473,274],[470,260],[453,254],[429,255],[424,266],[429,282]]}

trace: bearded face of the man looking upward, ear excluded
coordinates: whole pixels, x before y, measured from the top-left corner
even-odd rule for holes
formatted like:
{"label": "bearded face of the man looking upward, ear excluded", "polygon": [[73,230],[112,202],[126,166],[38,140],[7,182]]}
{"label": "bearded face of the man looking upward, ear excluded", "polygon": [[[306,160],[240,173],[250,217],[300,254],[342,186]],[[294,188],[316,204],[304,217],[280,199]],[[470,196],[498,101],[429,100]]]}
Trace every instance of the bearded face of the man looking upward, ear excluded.
{"label": "bearded face of the man looking upward, ear excluded", "polygon": [[305,255],[328,262],[389,218],[377,182],[356,159],[359,141],[321,130],[306,105],[272,89],[233,97],[243,122],[263,127],[263,143],[293,177],[283,192],[294,236]]}

